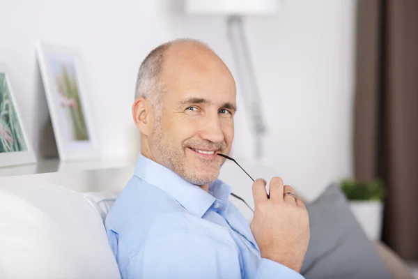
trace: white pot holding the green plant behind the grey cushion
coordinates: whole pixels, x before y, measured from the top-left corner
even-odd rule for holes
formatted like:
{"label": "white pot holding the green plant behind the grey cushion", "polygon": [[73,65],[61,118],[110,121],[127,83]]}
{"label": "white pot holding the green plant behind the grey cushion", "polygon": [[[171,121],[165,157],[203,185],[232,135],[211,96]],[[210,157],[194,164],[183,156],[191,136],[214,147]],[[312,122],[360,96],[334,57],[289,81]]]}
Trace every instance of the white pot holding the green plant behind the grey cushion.
{"label": "white pot holding the green plant behind the grey cushion", "polygon": [[350,208],[366,236],[373,241],[382,234],[383,204],[380,201],[350,201]]}

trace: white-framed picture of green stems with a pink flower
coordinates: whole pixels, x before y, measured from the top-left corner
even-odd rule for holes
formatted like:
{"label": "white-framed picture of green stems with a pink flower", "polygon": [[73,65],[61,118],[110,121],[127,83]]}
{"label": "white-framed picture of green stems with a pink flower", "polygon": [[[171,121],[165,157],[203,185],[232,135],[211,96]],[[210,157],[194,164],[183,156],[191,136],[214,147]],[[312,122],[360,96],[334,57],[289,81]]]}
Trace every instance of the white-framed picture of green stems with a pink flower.
{"label": "white-framed picture of green stems with a pink flower", "polygon": [[98,158],[79,55],[41,42],[36,50],[60,160]]}

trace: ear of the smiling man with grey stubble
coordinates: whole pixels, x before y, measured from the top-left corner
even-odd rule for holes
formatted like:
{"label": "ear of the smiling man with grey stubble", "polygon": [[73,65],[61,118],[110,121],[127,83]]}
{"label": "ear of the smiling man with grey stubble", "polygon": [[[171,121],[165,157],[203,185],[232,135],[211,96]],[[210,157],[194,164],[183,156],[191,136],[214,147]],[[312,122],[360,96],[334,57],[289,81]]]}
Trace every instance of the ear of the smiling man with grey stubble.
{"label": "ear of the smiling man with grey stubble", "polygon": [[153,107],[144,97],[138,97],[132,105],[132,118],[143,135],[149,135],[153,122]]}

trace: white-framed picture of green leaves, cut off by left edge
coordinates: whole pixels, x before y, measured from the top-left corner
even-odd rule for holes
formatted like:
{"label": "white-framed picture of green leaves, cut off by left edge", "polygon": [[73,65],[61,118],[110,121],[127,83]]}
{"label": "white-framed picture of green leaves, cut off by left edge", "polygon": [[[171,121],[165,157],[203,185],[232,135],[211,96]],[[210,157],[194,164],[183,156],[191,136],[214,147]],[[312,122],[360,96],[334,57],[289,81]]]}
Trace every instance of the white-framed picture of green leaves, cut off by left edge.
{"label": "white-framed picture of green leaves, cut off by left edge", "polygon": [[6,66],[0,64],[0,167],[36,163]]}

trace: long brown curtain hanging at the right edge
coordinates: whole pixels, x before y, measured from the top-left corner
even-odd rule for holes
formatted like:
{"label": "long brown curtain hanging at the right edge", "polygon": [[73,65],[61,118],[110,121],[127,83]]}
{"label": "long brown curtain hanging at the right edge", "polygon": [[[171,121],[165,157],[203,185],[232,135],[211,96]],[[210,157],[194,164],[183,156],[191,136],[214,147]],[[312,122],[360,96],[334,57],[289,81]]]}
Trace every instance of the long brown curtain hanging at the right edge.
{"label": "long brown curtain hanging at the right edge", "polygon": [[418,260],[418,0],[358,0],[355,176],[385,182],[382,240]]}

